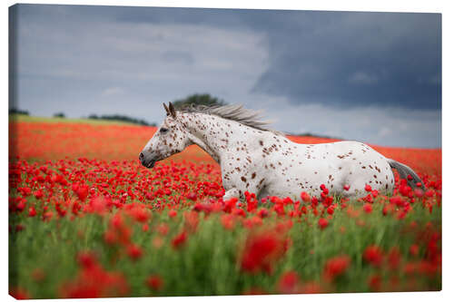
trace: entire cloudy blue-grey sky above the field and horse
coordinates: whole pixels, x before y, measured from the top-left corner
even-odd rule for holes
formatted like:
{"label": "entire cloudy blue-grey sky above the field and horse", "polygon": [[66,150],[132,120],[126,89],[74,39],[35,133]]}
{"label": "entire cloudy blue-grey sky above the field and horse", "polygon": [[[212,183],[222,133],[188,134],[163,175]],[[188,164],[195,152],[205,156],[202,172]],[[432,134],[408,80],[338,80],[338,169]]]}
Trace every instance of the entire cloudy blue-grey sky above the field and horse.
{"label": "entire cloudy blue-grey sky above the field and horse", "polygon": [[15,5],[13,95],[33,115],[211,93],[283,132],[441,147],[441,15]]}

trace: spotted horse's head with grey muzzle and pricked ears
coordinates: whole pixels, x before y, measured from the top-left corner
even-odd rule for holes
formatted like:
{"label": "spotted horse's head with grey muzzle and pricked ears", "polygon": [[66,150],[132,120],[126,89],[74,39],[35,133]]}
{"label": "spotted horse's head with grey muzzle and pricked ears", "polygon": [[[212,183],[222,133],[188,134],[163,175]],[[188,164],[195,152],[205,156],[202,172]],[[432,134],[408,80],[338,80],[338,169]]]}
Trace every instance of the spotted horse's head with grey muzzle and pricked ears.
{"label": "spotted horse's head with grey muzzle and pricked ears", "polygon": [[139,154],[139,160],[146,168],[153,168],[156,161],[162,161],[181,152],[191,144],[188,132],[177,121],[177,112],[173,108],[172,102],[169,102],[169,107],[165,103],[163,105],[167,116]]}

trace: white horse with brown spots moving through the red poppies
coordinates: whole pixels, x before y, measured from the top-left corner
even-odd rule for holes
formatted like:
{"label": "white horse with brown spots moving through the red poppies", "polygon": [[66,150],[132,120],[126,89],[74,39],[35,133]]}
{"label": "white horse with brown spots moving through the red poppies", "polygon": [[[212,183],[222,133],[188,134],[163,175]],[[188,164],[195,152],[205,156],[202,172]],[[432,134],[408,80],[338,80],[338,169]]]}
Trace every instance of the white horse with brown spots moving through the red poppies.
{"label": "white horse with brown spots moving through the red poppies", "polygon": [[[242,199],[245,192],[296,200],[305,191],[320,197],[323,190],[361,198],[370,190],[390,194],[392,169],[411,188],[424,183],[410,167],[387,159],[359,141],[300,144],[270,130],[260,113],[242,105],[189,106],[175,110],[163,103],[166,117],[139,160],[146,168],[192,144],[212,156],[222,170],[223,200]],[[409,177],[410,175],[410,177]],[[366,190],[368,188],[368,190]]]}

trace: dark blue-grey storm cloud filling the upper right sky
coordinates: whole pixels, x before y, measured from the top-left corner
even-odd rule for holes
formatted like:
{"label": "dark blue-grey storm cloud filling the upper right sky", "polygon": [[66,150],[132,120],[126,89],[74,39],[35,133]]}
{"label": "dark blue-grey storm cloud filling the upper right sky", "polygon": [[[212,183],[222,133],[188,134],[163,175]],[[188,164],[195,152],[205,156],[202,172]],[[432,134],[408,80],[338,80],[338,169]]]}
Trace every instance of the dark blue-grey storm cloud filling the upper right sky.
{"label": "dark blue-grey storm cloud filling the upper right sky", "polygon": [[256,93],[347,108],[441,108],[439,14],[130,8],[116,17],[267,34],[270,66]]}

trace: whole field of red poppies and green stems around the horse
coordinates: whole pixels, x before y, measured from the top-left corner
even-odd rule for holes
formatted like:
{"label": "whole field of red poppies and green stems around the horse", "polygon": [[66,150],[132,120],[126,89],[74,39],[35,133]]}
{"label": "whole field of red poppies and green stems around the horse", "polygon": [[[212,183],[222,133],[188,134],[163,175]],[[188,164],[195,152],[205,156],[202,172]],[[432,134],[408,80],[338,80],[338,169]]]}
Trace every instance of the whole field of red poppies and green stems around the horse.
{"label": "whole field of red poppies and green stems around the horse", "polygon": [[[409,165],[391,196],[222,200],[196,146],[138,160],[156,128],[10,122],[9,292],[17,298],[441,289],[441,150],[371,145]],[[290,137],[301,143],[335,141]],[[367,142],[367,141],[366,141]],[[349,190],[348,185],[344,190]]]}

